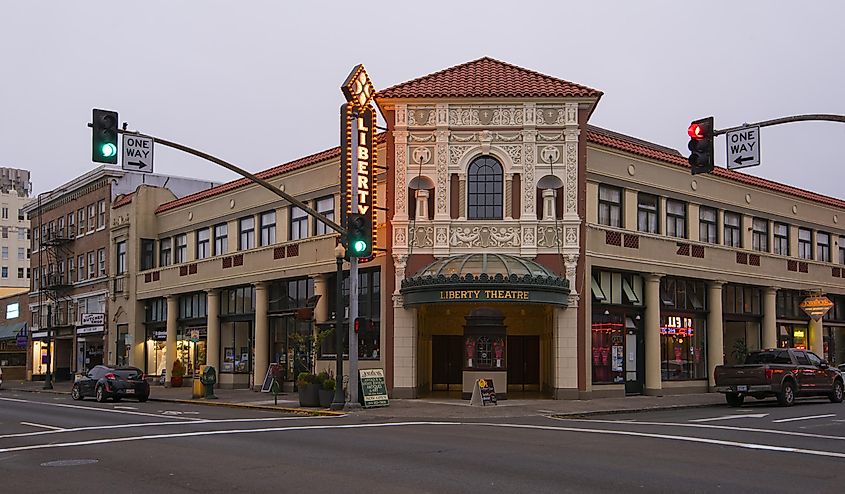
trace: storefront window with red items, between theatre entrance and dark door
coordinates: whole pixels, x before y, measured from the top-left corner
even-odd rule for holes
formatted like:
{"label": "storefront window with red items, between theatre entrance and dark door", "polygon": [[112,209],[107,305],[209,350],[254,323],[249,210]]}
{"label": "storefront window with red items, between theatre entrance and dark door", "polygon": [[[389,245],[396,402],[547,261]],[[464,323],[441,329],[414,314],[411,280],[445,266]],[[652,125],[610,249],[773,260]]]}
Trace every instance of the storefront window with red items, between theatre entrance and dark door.
{"label": "storefront window with red items, between theatre entrance and dark door", "polygon": [[592,358],[594,383],[624,382],[623,316],[620,314],[593,314]]}

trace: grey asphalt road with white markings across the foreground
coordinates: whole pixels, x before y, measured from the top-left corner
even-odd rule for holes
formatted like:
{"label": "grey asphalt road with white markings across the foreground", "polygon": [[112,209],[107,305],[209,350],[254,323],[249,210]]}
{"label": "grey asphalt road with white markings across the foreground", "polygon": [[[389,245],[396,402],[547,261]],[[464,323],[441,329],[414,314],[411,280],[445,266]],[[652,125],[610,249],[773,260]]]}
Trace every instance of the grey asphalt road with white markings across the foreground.
{"label": "grey asphalt road with white markings across the foreground", "polygon": [[845,405],[472,422],[0,393],[3,492],[842,492]]}

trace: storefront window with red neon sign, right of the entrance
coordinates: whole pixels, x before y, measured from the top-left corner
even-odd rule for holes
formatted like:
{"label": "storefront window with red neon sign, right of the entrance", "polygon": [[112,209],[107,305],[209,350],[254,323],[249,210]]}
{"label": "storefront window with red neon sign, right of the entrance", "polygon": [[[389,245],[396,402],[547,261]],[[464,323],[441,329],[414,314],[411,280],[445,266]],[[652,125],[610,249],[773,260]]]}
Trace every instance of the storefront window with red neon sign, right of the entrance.
{"label": "storefront window with red neon sign, right of the entrance", "polygon": [[707,377],[705,333],[703,318],[683,315],[660,317],[660,369],[664,381]]}

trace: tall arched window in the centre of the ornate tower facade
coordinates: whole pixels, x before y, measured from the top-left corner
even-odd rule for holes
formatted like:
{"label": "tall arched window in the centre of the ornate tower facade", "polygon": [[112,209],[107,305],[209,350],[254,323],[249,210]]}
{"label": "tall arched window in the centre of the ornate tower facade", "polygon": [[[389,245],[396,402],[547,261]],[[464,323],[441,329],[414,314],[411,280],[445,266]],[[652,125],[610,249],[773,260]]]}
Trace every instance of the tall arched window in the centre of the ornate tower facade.
{"label": "tall arched window in the centre of the ornate tower facade", "polygon": [[502,165],[492,156],[480,156],[467,170],[467,218],[502,219]]}

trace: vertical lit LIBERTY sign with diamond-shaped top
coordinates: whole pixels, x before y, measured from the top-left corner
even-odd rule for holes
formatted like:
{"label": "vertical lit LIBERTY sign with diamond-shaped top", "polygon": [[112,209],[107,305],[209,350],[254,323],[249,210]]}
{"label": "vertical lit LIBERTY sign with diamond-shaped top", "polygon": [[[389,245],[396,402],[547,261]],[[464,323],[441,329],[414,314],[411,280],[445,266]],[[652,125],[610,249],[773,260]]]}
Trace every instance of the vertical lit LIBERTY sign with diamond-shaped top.
{"label": "vertical lit LIBERTY sign with diamond-shaped top", "polygon": [[[343,187],[344,207],[343,225],[346,226],[348,213],[371,216],[372,240],[376,245],[376,182],[375,166],[378,162],[378,150],[375,147],[376,110],[371,105],[375,89],[359,64],[350,72],[341,86],[346,104],[341,107],[341,184]],[[353,201],[355,207],[352,207]]]}

